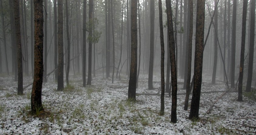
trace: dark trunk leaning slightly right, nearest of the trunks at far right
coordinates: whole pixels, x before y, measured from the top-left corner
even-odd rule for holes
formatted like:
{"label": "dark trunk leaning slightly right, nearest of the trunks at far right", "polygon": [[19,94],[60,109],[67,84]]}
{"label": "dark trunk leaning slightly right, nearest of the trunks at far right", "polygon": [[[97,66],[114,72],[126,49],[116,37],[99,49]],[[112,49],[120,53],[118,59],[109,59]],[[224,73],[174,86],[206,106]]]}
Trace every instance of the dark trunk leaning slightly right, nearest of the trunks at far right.
{"label": "dark trunk leaning slightly right, nearest of the trunks at far right", "polygon": [[240,70],[239,70],[239,83],[238,83],[238,98],[237,101],[243,101],[243,76],[244,76],[244,48],[245,48],[245,34],[246,34],[246,14],[247,14],[248,0],[243,2],[243,16],[242,16],[242,39],[241,39],[241,55],[240,55]]}

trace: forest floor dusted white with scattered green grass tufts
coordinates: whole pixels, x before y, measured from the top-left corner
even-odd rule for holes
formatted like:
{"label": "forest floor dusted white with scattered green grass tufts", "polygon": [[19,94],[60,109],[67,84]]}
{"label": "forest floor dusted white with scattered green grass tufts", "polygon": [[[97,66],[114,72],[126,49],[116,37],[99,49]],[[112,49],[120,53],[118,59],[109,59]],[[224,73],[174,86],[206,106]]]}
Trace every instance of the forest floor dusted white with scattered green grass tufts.
{"label": "forest floor dusted white with scattered green grass tufts", "polygon": [[[146,75],[140,75],[137,93],[157,94],[160,76],[154,76],[155,90],[148,90]],[[128,80],[94,77],[91,86],[82,87],[80,76],[71,76],[72,87],[56,91],[57,83],[49,78],[43,83],[42,101],[46,112],[39,117],[29,113],[32,85],[17,95],[14,77],[0,77],[0,134],[256,134],[255,100],[243,96],[237,101],[237,92],[227,92],[213,107],[206,111],[223,92],[201,93],[200,120],[190,121],[189,110],[183,110],[186,90],[178,83],[177,123],[170,122],[171,98],[166,94],[165,114],[159,116],[160,95],[137,95],[137,101],[127,100]],[[218,79],[221,80],[221,79]],[[32,82],[24,77],[24,86]],[[183,80],[178,79],[178,82]],[[210,84],[203,76],[201,92],[225,91],[225,84]],[[190,95],[191,100],[192,94]],[[190,107],[190,101],[189,101]],[[240,119],[239,119],[240,118]]]}

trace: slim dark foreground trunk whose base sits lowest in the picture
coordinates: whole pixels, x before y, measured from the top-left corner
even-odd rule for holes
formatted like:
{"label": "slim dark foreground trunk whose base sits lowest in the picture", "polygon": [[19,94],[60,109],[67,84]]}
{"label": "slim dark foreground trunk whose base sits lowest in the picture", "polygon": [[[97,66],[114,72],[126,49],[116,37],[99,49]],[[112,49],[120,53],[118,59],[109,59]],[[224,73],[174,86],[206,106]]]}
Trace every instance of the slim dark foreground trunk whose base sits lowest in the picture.
{"label": "slim dark foreground trunk whose base sits lowest in the picture", "polygon": [[168,37],[170,47],[170,59],[171,59],[171,79],[172,79],[172,111],[171,111],[171,122],[177,122],[177,74],[176,74],[176,62],[175,62],[175,45],[173,35],[173,24],[172,24],[172,6],[171,1],[166,0],[166,12],[167,12],[167,26],[168,26]]}

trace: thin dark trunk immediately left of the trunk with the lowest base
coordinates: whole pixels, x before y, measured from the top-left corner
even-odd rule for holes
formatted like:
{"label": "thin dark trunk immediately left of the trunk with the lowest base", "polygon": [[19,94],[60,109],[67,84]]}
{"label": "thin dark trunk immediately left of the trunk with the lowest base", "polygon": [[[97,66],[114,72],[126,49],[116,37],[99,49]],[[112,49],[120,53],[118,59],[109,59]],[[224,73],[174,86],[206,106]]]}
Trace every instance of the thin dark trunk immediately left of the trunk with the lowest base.
{"label": "thin dark trunk immediately left of the trunk with the lowest base", "polygon": [[164,77],[164,33],[163,33],[163,13],[162,13],[162,0],[158,0],[159,7],[159,25],[160,25],[160,42],[161,42],[161,108],[160,115],[164,115],[164,96],[165,96],[165,77]]}

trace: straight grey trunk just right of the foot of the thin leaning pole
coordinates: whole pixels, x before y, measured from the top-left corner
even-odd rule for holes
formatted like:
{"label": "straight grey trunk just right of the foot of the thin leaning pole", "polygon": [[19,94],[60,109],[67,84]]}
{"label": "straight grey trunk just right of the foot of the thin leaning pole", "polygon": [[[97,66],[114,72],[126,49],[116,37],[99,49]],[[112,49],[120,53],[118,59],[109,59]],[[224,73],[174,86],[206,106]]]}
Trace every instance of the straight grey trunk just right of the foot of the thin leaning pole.
{"label": "straight grey trunk just right of the foot of the thin leaning pole", "polygon": [[235,58],[236,58],[236,19],[237,19],[237,0],[233,0],[232,16],[232,37],[231,37],[231,64],[230,64],[230,83],[231,88],[235,88]]}

